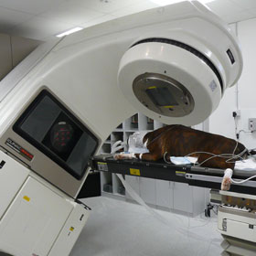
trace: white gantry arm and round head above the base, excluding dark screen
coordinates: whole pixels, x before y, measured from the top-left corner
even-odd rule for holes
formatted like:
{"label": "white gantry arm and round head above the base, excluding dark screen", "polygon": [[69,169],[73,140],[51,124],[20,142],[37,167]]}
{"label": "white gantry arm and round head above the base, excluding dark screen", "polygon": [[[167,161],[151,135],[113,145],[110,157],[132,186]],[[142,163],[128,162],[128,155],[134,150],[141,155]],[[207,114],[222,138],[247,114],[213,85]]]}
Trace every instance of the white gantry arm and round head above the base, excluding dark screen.
{"label": "white gantry arm and round head above the base, excluding dark screen", "polygon": [[[161,41],[140,43],[152,38]],[[178,46],[170,45],[171,40],[179,42]],[[98,138],[100,148],[101,142],[123,120],[138,111],[162,123],[201,123],[218,106],[226,89],[239,79],[241,69],[240,47],[230,28],[197,1],[159,7],[89,27],[37,48],[1,82],[0,144],[20,158],[14,148],[6,146],[11,139],[35,155],[33,161],[24,157],[22,161],[69,196],[76,197],[88,172],[79,179],[70,176],[52,161],[53,157],[42,154],[13,130],[40,91],[49,91],[87,127]],[[176,106],[145,107],[135,96],[137,92],[133,92],[134,80],[141,75],[142,86],[149,79],[149,88],[155,87],[156,94],[157,87],[173,89],[169,94],[176,95],[175,101],[184,98],[185,106],[190,94],[191,112],[175,116]],[[146,86],[144,91],[147,89]],[[161,111],[171,114],[159,114]]]}

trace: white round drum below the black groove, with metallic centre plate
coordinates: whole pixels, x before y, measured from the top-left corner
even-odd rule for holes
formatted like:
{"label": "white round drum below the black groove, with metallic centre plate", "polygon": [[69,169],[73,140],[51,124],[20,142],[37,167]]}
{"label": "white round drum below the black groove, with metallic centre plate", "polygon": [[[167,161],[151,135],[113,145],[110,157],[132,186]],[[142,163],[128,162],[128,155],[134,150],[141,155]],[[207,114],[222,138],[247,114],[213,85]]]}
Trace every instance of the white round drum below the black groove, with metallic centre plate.
{"label": "white round drum below the black groove, with metallic centre plate", "polygon": [[222,88],[217,69],[200,57],[161,42],[134,45],[121,59],[120,89],[138,112],[161,123],[201,123],[218,107]]}

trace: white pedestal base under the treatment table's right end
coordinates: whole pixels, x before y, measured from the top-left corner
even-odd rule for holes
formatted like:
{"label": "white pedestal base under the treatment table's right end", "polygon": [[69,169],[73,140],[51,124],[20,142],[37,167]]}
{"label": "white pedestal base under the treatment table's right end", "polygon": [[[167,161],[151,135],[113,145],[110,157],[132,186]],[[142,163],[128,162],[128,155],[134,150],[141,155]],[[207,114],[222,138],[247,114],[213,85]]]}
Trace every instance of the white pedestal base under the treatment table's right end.
{"label": "white pedestal base under the treatment table's right end", "polygon": [[254,256],[256,251],[256,196],[219,191],[222,204],[218,229],[224,241],[223,255]]}

